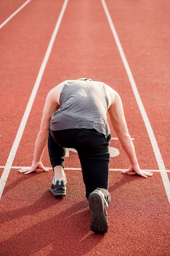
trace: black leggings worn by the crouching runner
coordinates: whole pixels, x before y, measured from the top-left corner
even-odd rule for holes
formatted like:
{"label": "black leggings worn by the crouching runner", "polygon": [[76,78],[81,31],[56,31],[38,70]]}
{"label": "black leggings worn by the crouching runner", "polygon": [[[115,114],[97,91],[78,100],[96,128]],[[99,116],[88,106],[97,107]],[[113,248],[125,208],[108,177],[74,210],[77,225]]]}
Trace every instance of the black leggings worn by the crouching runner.
{"label": "black leggings worn by the crouching runner", "polygon": [[[97,188],[108,189],[109,139],[95,129],[49,130],[48,152],[52,168],[64,168],[65,149],[75,148],[80,159],[86,197]],[[109,192],[105,191],[106,198]]]}

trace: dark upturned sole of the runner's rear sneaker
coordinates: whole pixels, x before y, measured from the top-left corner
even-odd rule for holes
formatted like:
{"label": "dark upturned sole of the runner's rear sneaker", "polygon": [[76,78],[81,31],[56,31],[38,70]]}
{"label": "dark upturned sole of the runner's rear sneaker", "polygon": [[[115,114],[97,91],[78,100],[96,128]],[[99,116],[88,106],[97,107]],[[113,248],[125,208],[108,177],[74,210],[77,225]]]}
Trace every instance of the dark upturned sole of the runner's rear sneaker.
{"label": "dark upturned sole of the runner's rear sneaker", "polygon": [[92,214],[90,229],[95,233],[106,233],[109,228],[109,222],[105,216],[102,195],[97,192],[91,193],[89,195],[89,208]]}

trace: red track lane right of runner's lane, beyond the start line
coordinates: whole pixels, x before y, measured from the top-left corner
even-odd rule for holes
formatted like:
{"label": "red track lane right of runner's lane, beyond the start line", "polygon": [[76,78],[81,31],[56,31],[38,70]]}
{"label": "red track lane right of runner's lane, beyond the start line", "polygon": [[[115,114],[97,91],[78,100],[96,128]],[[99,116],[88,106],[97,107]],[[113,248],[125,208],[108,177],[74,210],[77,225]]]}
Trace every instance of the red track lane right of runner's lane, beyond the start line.
{"label": "red track lane right of runner's lane, beyond the start line", "polygon": [[[106,0],[137,89],[153,128],[163,162],[170,169],[168,83],[170,79],[170,4],[165,1]],[[119,15],[120,14],[120,15]],[[140,50],[139,50],[140,49]]]}

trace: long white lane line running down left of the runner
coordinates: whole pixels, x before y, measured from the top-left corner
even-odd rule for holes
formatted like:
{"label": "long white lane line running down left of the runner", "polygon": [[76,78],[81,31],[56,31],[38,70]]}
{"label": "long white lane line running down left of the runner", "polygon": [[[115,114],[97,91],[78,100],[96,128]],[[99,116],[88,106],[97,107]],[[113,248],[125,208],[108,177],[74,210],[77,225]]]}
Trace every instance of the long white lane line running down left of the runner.
{"label": "long white lane line running down left of the runner", "polygon": [[52,50],[52,46],[54,44],[54,40],[56,38],[56,35],[57,35],[57,32],[59,30],[59,26],[60,26],[60,23],[61,23],[61,20],[63,18],[63,14],[64,14],[64,11],[65,11],[65,8],[67,6],[67,3],[68,3],[68,0],[65,0],[65,2],[63,3],[63,7],[61,9],[61,12],[60,12],[60,15],[59,15],[59,18],[57,20],[57,23],[56,23],[56,26],[54,28],[54,31],[53,31],[53,34],[52,34],[52,37],[50,39],[50,43],[48,45],[48,48],[47,48],[47,51],[46,51],[46,54],[44,56],[44,60],[41,64],[41,67],[40,67],[40,70],[39,70],[39,73],[38,73],[38,76],[37,76],[37,79],[35,81],[35,85],[33,87],[33,91],[31,93],[31,96],[30,96],[30,99],[28,101],[28,104],[26,106],[26,110],[24,112],[24,115],[22,117],[22,121],[20,123],[20,127],[17,131],[17,135],[15,137],[15,141],[13,142],[13,146],[11,148],[11,151],[9,153],[9,157],[7,159],[7,163],[4,167],[4,171],[2,173],[2,176],[0,178],[0,198],[2,196],[2,192],[4,190],[4,186],[5,186],[5,183],[7,181],[7,178],[8,178],[8,175],[9,175],[9,172],[10,172],[10,169],[11,169],[11,166],[13,164],[13,159],[15,157],[15,154],[17,152],[17,148],[20,144],[20,140],[22,138],[22,134],[24,132],[24,129],[25,129],[25,126],[26,126],[26,122],[28,120],[28,117],[29,117],[29,114],[31,112],[31,108],[33,106],[33,102],[35,100],[35,97],[36,97],[36,94],[37,94],[37,90],[39,88],[39,84],[41,82],[41,79],[42,79],[42,76],[44,74],[44,70],[46,68],[46,64],[48,62],[48,58],[50,56],[50,53],[51,53],[51,50]]}

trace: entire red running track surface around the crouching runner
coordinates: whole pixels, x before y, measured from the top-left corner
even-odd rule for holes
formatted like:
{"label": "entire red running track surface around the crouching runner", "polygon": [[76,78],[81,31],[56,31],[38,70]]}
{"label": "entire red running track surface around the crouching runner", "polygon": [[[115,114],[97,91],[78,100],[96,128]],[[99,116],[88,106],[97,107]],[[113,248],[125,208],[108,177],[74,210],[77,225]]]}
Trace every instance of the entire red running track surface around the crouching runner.
{"label": "entire red running track surface around the crouching runner", "polygon": [[[22,4],[1,1],[1,24]],[[0,255],[170,255],[169,11],[168,0],[31,0],[0,29]],[[129,80],[120,46],[134,80]],[[48,91],[82,76],[118,91],[139,165],[154,171],[147,179],[122,174],[129,160],[111,130],[111,204],[105,235],[89,230],[90,212],[75,152],[66,157],[63,199],[49,191],[51,169],[30,175],[17,171],[31,165]],[[33,106],[28,120],[23,119],[35,85]],[[135,85],[144,109],[133,93]],[[43,163],[50,167],[47,148]]]}

